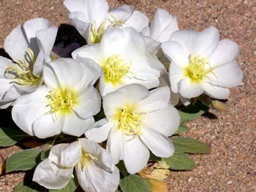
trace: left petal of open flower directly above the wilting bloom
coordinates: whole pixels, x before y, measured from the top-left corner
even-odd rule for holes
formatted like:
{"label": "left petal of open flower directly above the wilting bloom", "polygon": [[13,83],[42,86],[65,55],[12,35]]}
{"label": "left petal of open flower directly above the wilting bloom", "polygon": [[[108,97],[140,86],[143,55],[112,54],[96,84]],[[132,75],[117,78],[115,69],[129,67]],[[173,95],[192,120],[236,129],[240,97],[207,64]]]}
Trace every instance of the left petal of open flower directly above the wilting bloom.
{"label": "left petal of open flower directly above the wilting bloom", "polygon": [[[49,89],[41,86],[35,92],[21,96],[13,103],[12,118],[16,125],[27,134],[36,135],[33,131],[33,123],[50,110],[47,108],[46,95],[48,93]],[[45,124],[43,123],[42,126]]]}

